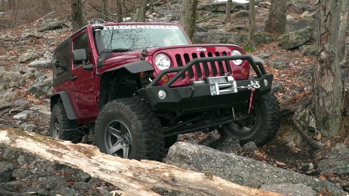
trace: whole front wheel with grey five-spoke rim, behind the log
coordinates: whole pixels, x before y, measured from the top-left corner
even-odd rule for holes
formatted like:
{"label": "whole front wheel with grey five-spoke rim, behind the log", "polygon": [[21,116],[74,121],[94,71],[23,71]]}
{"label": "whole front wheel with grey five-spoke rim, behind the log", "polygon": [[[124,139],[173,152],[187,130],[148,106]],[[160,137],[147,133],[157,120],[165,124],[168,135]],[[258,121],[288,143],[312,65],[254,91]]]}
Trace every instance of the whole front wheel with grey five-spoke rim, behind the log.
{"label": "whole front wheel with grey five-spoke rim, behind the log", "polygon": [[113,100],[99,112],[95,145],[102,153],[127,159],[161,161],[164,134],[151,108],[137,98]]}

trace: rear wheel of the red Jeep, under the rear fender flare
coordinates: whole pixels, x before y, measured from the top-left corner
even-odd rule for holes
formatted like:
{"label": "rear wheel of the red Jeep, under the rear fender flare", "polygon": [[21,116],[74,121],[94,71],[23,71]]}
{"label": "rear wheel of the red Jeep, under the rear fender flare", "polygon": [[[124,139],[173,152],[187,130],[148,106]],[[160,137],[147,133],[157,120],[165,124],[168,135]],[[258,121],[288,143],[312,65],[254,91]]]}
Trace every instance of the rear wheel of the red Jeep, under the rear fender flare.
{"label": "rear wheel of the red Jeep, under the rear fender flare", "polygon": [[76,120],[68,119],[63,103],[59,102],[53,106],[48,135],[77,144],[81,142],[84,133]]}

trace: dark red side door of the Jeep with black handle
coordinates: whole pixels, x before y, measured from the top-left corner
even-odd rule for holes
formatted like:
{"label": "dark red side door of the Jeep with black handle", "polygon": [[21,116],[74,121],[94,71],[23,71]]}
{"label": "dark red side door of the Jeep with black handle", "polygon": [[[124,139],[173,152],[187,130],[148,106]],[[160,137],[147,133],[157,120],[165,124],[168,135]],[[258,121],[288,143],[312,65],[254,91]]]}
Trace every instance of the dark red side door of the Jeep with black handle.
{"label": "dark red side door of the Jeep with black handle", "polygon": [[[90,46],[86,29],[82,30],[72,38],[72,50],[85,49],[91,64]],[[96,69],[94,67],[94,69]],[[96,103],[96,86],[93,70],[83,70],[82,64],[72,64],[71,70],[71,93],[77,112],[80,115],[90,114],[98,111]]]}

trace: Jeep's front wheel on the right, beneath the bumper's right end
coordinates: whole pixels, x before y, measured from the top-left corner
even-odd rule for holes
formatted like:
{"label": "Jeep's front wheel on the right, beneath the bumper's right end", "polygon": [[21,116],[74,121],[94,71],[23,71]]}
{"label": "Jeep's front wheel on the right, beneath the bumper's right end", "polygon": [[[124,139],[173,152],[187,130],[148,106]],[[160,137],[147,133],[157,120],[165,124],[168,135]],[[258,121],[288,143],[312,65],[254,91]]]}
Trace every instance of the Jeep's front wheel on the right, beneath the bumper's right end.
{"label": "Jeep's front wheel on the right, beneath the bumper's right end", "polygon": [[[247,114],[248,108],[243,108],[242,111]],[[241,145],[253,141],[261,146],[271,141],[280,126],[280,107],[274,94],[269,92],[253,100],[250,114],[254,114],[255,118],[245,122],[249,127],[241,123],[228,123],[218,129],[218,132],[223,137],[229,134],[237,137]]]}

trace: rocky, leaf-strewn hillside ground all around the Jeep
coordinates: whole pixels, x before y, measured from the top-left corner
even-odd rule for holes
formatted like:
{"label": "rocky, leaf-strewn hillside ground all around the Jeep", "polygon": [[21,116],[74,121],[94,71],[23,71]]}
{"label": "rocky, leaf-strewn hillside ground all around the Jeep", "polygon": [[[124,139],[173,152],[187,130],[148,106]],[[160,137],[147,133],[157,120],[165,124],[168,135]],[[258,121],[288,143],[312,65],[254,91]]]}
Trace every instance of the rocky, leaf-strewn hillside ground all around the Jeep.
{"label": "rocky, leaf-strewn hillside ground all around the Jeep", "polygon": [[[195,44],[246,44],[248,4],[235,2],[232,21],[224,25],[225,3],[211,0],[199,2],[197,18],[201,22],[197,23]],[[287,34],[279,38],[263,32],[269,7],[268,1],[256,0],[258,49],[249,53],[266,61],[267,72],[275,76],[272,91],[285,108],[297,104],[310,92],[315,64],[318,5],[316,1],[290,0],[287,5]],[[178,23],[180,8],[179,1],[159,1],[149,7],[147,21]],[[0,21],[3,20],[4,23],[14,20],[14,16],[9,13],[0,15]],[[85,21],[89,17],[94,17],[93,13],[86,14]],[[134,21],[135,18],[136,13],[131,13],[125,18],[125,22]],[[49,98],[52,94],[52,52],[72,33],[71,22],[65,19],[52,12],[31,25],[22,23],[15,28],[4,27],[1,30],[1,126],[18,127],[47,135]],[[3,26],[0,25],[0,28]],[[349,42],[349,39],[346,41]],[[347,66],[347,60],[341,63],[343,81]],[[288,118],[285,115],[282,119],[283,124],[275,140],[258,148],[253,143],[241,147],[236,140],[218,147],[219,151],[209,147],[198,148],[193,144],[208,146],[219,139],[219,134],[197,132],[180,135],[179,141],[186,143],[173,146],[164,162],[199,172],[210,170],[219,177],[251,187],[284,193],[295,186],[292,184],[298,184],[297,187],[304,190],[303,193],[292,195],[329,195],[330,192],[348,190],[348,139],[343,139],[336,145],[336,140],[324,140],[317,136],[328,153],[315,158],[305,151],[304,141],[297,130],[289,125]],[[313,138],[315,137],[314,134]],[[88,136],[83,142],[92,143],[92,140],[93,137]],[[333,146],[335,147],[331,150]],[[3,149],[0,159],[0,165],[3,166],[0,168],[4,168],[0,169],[0,176],[3,176],[2,181],[7,181],[7,187],[37,192],[35,195],[110,195],[109,191],[117,190],[81,171],[10,149]],[[246,166],[253,167],[246,169]]]}

